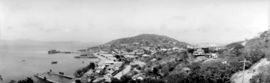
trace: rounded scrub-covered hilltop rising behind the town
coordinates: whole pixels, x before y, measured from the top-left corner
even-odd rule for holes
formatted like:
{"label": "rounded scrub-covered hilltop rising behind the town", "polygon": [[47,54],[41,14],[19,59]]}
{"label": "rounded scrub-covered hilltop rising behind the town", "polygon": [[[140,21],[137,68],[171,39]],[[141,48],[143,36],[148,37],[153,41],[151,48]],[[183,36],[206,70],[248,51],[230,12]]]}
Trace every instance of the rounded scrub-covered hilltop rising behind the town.
{"label": "rounded scrub-covered hilltop rising behind the town", "polygon": [[161,35],[156,35],[156,34],[141,34],[141,35],[129,37],[129,38],[120,38],[120,39],[112,40],[106,43],[106,45],[136,44],[136,43],[139,43],[141,45],[148,45],[148,46],[175,45],[175,46],[186,47],[187,45],[190,45],[188,43],[180,42],[168,36],[161,36]]}

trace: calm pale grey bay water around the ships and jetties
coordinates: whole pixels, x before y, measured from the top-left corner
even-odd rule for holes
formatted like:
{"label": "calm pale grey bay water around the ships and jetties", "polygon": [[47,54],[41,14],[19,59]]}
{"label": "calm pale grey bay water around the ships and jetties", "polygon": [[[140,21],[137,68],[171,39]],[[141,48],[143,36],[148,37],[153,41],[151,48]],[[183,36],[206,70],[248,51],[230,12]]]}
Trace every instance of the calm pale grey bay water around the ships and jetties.
{"label": "calm pale grey bay water around the ships and jetties", "polygon": [[[35,73],[46,72],[52,69],[53,72],[64,72],[64,75],[73,76],[76,69],[85,67],[89,62],[98,61],[94,58],[73,58],[79,54],[48,54],[50,48],[59,51],[77,51],[87,49],[94,45],[67,45],[67,44],[40,44],[40,45],[0,45],[0,75],[3,78],[1,83],[8,83],[11,80],[24,80],[32,77],[34,82],[38,79],[33,76]],[[25,60],[25,61],[22,61]],[[51,61],[57,64],[51,64]],[[82,61],[85,63],[83,64]],[[69,79],[55,78],[48,76],[48,79],[65,83]]]}

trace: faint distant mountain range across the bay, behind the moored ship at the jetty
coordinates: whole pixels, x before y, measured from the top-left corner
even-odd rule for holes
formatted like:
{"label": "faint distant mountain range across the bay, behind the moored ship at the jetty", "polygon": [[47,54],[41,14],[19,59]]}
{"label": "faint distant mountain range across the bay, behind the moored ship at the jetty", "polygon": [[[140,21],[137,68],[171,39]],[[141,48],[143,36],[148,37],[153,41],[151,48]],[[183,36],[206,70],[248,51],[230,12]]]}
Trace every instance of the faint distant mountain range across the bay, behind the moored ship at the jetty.
{"label": "faint distant mountain range across the bay, behind the moored ship at the jetty", "polygon": [[0,44],[94,44],[94,43],[83,43],[78,41],[47,42],[30,39],[15,39],[15,40],[1,39]]}

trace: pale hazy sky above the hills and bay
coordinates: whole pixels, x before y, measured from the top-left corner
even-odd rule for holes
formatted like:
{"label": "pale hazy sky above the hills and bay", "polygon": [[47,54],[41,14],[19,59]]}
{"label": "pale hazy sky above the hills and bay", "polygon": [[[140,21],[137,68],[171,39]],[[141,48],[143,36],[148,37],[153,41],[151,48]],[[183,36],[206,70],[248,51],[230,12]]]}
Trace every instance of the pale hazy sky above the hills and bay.
{"label": "pale hazy sky above the hills and bay", "polygon": [[105,43],[158,34],[231,43],[269,29],[264,0],[0,0],[0,39]]}

